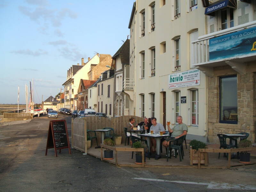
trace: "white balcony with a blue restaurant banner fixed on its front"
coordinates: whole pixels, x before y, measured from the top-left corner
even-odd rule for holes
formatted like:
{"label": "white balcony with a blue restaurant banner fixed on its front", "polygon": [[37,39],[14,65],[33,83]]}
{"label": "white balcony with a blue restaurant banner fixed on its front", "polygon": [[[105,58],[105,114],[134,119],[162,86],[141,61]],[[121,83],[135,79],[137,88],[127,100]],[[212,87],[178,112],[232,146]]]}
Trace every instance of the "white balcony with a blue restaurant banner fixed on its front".
{"label": "white balcony with a blue restaurant banner fixed on its front", "polygon": [[191,42],[191,65],[213,76],[213,67],[229,65],[240,74],[256,60],[256,21],[198,37]]}

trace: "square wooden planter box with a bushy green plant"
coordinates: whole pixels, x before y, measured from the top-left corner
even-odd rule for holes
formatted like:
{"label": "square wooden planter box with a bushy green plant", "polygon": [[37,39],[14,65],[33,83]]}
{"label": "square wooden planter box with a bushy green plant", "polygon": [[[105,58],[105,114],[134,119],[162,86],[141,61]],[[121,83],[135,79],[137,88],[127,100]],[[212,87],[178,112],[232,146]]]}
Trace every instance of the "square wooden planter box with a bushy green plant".
{"label": "square wooden planter box with a bushy green plant", "polygon": [[[190,141],[189,146],[190,165],[198,164],[198,149],[205,149],[207,148],[207,145],[202,141],[192,140]],[[200,164],[208,163],[208,153],[201,152],[200,160]]]}

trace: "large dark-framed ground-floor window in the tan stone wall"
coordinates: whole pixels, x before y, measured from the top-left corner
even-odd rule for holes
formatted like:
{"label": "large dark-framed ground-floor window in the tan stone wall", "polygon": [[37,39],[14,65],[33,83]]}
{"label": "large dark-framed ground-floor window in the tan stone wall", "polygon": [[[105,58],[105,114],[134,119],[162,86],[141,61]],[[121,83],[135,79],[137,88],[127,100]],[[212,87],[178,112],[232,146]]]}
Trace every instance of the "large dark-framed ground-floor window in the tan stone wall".
{"label": "large dark-framed ground-floor window in the tan stone wall", "polygon": [[237,76],[220,77],[220,123],[237,124]]}

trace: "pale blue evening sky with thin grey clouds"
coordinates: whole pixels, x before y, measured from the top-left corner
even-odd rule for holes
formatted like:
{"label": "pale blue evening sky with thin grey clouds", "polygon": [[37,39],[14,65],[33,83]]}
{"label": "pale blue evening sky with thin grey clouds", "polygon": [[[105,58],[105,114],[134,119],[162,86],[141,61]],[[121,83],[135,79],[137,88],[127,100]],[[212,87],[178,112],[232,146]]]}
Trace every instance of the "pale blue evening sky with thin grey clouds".
{"label": "pale blue evening sky with thin grey clouds", "polygon": [[114,55],[130,34],[135,0],[1,0],[0,104],[25,104],[55,96],[67,70],[96,52]]}

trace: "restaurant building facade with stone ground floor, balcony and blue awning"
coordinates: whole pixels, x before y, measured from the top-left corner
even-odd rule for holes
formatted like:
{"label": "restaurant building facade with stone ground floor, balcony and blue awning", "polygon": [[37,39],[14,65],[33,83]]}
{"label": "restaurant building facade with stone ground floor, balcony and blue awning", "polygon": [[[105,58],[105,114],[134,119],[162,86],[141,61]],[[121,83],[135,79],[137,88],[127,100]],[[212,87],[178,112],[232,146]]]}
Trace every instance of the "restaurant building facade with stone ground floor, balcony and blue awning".
{"label": "restaurant building facade with stone ground floor, balcony and blue awning", "polygon": [[[207,75],[208,140],[256,127],[256,2],[213,0],[204,5],[207,35],[193,43],[193,66]],[[218,7],[218,9],[217,9]]]}

